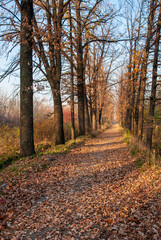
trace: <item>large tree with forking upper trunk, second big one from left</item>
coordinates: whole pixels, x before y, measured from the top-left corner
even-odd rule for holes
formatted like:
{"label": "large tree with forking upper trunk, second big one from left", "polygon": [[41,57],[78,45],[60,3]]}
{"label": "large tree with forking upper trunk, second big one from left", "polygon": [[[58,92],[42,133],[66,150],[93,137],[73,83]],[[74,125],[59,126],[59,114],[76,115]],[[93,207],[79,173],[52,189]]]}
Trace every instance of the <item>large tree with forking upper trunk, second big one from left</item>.
{"label": "large tree with forking upper trunk, second big one from left", "polygon": [[[39,7],[40,15],[43,12],[46,24],[42,22],[38,25],[36,16],[34,16],[34,50],[40,62],[43,63],[41,70],[50,84],[54,99],[54,144],[64,143],[63,129],[63,111],[61,101],[61,77],[62,77],[62,20],[67,11],[69,0],[65,3],[63,0],[39,1],[36,4]],[[38,16],[39,18],[39,16]]]}

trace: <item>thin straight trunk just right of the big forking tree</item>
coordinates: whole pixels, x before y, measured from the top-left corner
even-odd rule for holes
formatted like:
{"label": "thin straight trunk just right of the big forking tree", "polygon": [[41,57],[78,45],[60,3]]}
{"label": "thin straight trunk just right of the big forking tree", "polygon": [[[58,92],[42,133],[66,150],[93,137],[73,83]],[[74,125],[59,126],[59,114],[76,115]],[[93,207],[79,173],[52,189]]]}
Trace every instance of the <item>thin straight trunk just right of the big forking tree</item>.
{"label": "thin straight trunk just right of the big forking tree", "polygon": [[75,139],[75,122],[74,122],[74,71],[73,71],[73,37],[72,37],[72,16],[71,16],[71,6],[69,3],[69,17],[70,17],[70,91],[71,91],[71,139]]}

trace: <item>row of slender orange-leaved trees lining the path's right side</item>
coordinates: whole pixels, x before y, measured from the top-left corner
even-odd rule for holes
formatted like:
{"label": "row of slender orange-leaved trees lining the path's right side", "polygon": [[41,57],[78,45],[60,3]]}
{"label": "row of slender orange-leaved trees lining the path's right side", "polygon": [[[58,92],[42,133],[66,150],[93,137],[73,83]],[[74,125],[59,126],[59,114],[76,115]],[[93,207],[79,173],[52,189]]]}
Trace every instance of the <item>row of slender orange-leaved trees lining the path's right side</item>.
{"label": "row of slender orange-leaved trees lining the path's right side", "polygon": [[[148,21],[145,11],[148,9]],[[133,8],[131,6],[131,12]],[[137,24],[134,24],[136,23]],[[122,126],[152,147],[155,107],[160,99],[161,2],[142,1],[139,14],[127,24],[130,41],[127,70],[119,83],[119,108]],[[141,35],[144,35],[140,38]]]}

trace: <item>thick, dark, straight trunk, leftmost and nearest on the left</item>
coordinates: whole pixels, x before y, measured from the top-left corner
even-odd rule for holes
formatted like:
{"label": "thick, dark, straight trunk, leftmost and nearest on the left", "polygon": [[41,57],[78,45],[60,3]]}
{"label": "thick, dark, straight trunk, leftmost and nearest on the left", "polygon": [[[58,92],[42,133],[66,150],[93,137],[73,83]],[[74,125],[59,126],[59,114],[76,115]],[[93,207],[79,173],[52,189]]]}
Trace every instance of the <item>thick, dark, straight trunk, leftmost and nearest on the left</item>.
{"label": "thick, dark, straight trunk, leftmost and nearest on the left", "polygon": [[22,156],[35,153],[33,137],[32,18],[33,1],[21,0],[20,148]]}

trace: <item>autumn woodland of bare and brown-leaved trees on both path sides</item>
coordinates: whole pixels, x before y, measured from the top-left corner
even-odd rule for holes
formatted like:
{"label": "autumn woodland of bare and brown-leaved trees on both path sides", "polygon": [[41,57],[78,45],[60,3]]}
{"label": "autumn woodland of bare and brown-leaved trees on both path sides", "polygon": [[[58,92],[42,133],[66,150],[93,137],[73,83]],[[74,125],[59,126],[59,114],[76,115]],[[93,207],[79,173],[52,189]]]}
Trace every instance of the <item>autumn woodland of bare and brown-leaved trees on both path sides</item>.
{"label": "autumn woodland of bare and brown-leaved trees on both path sides", "polygon": [[[122,4],[1,1],[0,37],[9,58],[1,81],[17,77],[20,88],[9,100],[1,93],[0,117],[20,129],[21,155],[34,154],[34,128],[36,133],[43,124],[50,129],[44,129],[42,141],[59,145],[112,121],[149,148],[154,139],[159,151],[160,2]],[[34,93],[45,91],[53,99],[48,106],[42,98],[33,100]],[[70,112],[68,120],[63,111]]]}

